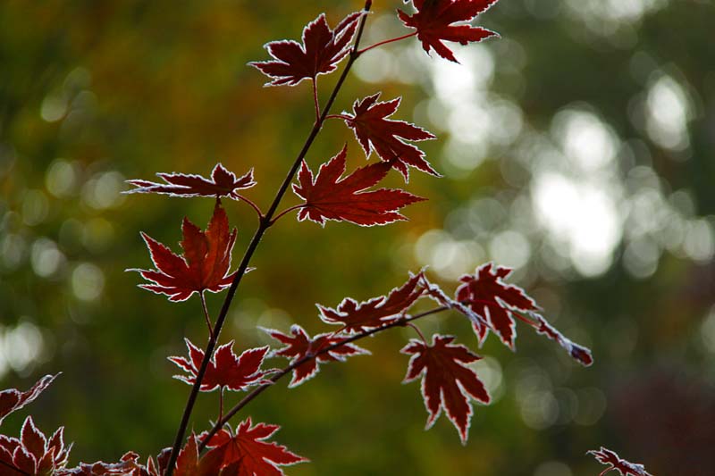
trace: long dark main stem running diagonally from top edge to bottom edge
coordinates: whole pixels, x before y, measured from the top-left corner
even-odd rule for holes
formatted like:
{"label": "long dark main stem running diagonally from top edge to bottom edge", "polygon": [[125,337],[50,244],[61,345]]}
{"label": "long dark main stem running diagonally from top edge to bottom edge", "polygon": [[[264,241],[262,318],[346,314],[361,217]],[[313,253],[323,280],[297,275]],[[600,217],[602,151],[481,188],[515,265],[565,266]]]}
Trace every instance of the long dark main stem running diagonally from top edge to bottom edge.
{"label": "long dark main stem running diagonally from top edge to bottom edge", "polygon": [[[368,11],[370,9],[370,6],[372,4],[372,0],[366,0],[365,4],[365,11]],[[184,439],[184,436],[186,434],[186,429],[189,426],[189,418],[191,416],[191,413],[193,412],[194,405],[196,404],[196,399],[198,397],[198,392],[199,389],[201,388],[201,383],[204,380],[204,375],[206,375],[206,368],[208,367],[208,363],[211,360],[212,355],[214,355],[214,348],[216,347],[216,343],[218,341],[219,334],[221,333],[221,329],[223,328],[223,322],[226,320],[226,315],[228,315],[229,309],[231,307],[231,302],[233,301],[233,296],[236,295],[236,291],[239,288],[240,281],[243,278],[243,276],[246,274],[246,271],[248,270],[248,263],[251,260],[251,257],[254,255],[256,252],[256,249],[258,247],[258,244],[261,241],[261,238],[263,238],[265,231],[268,230],[271,225],[273,224],[272,218],[273,214],[275,211],[278,209],[278,205],[281,204],[281,200],[283,196],[285,195],[286,191],[290,187],[290,182],[293,180],[293,177],[295,177],[296,172],[299,169],[300,163],[303,162],[303,159],[305,159],[307,155],[307,151],[310,149],[310,146],[313,145],[313,141],[315,141],[315,138],[318,135],[318,132],[320,132],[320,129],[323,127],[323,122],[325,121],[325,117],[328,115],[330,112],[330,108],[332,107],[332,104],[335,102],[335,98],[338,96],[338,93],[340,92],[342,88],[342,84],[345,82],[345,79],[348,77],[348,73],[350,71],[350,68],[352,67],[352,64],[355,63],[357,60],[357,56],[359,54],[357,53],[357,47],[360,43],[360,38],[362,38],[363,30],[365,29],[365,21],[366,21],[366,15],[363,15],[363,17],[360,19],[360,24],[357,27],[357,36],[355,38],[355,45],[352,48],[352,51],[350,52],[349,58],[348,58],[348,63],[346,64],[345,68],[342,71],[340,79],[338,79],[338,82],[335,84],[335,87],[332,88],[332,93],[331,96],[328,98],[327,103],[325,104],[323,113],[320,115],[320,117],[315,121],[315,124],[313,125],[313,129],[310,130],[310,133],[307,136],[306,142],[303,145],[303,147],[300,149],[300,152],[298,156],[296,157],[295,162],[293,163],[292,167],[290,167],[290,171],[285,176],[285,179],[283,180],[283,183],[281,185],[281,188],[278,189],[278,191],[275,194],[275,197],[273,198],[273,203],[271,204],[271,207],[268,209],[268,212],[265,213],[265,216],[261,218],[261,221],[258,224],[258,228],[256,232],[253,235],[253,238],[251,238],[250,243],[248,243],[248,247],[246,248],[245,253],[243,254],[243,258],[241,259],[239,269],[236,272],[236,277],[233,279],[233,282],[231,283],[231,287],[229,288],[228,292],[226,293],[226,297],[223,300],[223,305],[221,307],[221,312],[218,315],[218,318],[216,319],[216,323],[214,326],[214,333],[212,337],[208,340],[208,344],[206,345],[206,352],[204,353],[204,358],[201,361],[201,365],[198,369],[197,377],[196,377],[196,382],[194,383],[193,387],[191,388],[191,391],[189,393],[189,398],[186,402],[186,406],[184,407],[184,412],[181,415],[181,422],[179,423],[179,429],[176,431],[176,437],[174,438],[174,442],[172,445],[172,453],[169,456],[169,461],[166,464],[166,474],[165,476],[172,476],[174,466],[176,465],[176,458],[179,456],[179,450],[181,449],[181,442]],[[225,420],[225,417],[223,418]],[[222,421],[223,421],[222,420]]]}

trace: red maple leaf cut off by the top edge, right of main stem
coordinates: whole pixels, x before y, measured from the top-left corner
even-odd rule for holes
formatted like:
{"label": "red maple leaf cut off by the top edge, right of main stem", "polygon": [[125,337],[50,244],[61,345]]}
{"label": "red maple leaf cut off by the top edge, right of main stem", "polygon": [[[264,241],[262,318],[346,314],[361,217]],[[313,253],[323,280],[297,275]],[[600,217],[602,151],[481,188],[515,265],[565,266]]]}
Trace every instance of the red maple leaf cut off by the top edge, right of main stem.
{"label": "red maple leaf cut off by the top edge, right of main stem", "polygon": [[442,41],[454,41],[461,45],[499,36],[492,30],[472,27],[468,24],[452,25],[456,21],[471,21],[486,11],[497,0],[413,0],[417,12],[408,15],[398,10],[400,20],[409,28],[417,30],[417,38],[429,54],[433,48],[437,54],[454,63],[459,63],[453,52]]}

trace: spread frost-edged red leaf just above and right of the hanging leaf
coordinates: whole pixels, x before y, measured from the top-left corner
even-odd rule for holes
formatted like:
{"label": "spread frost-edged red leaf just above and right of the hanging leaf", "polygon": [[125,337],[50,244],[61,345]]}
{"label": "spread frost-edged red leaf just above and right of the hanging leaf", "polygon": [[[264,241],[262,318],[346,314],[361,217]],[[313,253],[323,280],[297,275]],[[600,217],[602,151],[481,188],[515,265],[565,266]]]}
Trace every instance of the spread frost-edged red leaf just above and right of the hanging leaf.
{"label": "spread frost-edged red leaf just above and right of the hanging leaf", "polygon": [[[509,268],[494,267],[492,263],[486,263],[479,267],[475,274],[466,274],[459,278],[463,284],[457,288],[456,298],[467,304],[484,321],[490,322],[492,330],[499,335],[501,341],[513,349],[514,339],[517,338],[514,318],[523,318],[512,311],[538,311],[539,308],[531,297],[526,296],[524,289],[502,281],[509,274]],[[473,321],[472,326],[479,342],[484,342],[489,330],[487,326],[480,321]]]}

